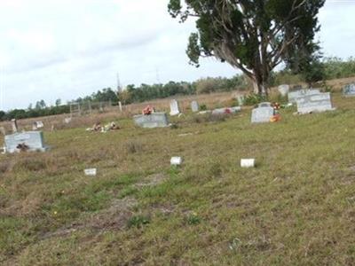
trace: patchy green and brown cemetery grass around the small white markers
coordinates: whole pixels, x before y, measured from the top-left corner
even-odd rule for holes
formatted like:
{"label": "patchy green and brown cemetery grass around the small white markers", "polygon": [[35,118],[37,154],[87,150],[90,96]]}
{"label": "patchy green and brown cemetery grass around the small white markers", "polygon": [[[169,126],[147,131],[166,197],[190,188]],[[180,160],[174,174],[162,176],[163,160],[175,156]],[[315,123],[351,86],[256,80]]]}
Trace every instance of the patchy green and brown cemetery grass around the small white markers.
{"label": "patchy green and brown cemetery grass around the small white markers", "polygon": [[0,155],[0,264],[355,264],[355,98],[332,97],[275,123],[243,109],[44,131],[50,152]]}

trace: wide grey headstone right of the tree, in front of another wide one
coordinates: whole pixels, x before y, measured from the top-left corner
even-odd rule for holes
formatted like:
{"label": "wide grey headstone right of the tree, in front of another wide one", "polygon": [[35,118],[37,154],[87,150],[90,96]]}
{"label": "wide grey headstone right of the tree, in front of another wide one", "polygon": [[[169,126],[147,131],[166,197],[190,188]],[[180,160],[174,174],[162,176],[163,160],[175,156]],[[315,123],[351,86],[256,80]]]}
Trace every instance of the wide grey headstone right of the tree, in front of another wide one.
{"label": "wide grey headstone right of the tree, in front of another wide one", "polygon": [[296,99],[298,113],[333,111],[330,93],[306,95]]}

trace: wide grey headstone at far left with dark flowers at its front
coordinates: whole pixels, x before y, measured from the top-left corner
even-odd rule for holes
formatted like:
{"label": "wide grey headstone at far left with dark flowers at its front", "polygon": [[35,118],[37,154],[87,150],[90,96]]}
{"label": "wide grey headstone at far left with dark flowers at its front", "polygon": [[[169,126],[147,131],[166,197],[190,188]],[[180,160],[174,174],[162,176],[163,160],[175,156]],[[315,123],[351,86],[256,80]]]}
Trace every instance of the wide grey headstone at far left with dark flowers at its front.
{"label": "wide grey headstone at far left with dark flowers at its front", "polygon": [[26,131],[14,133],[4,137],[5,147],[8,153],[20,152],[26,150],[29,152],[45,152],[49,149],[44,145],[42,131]]}

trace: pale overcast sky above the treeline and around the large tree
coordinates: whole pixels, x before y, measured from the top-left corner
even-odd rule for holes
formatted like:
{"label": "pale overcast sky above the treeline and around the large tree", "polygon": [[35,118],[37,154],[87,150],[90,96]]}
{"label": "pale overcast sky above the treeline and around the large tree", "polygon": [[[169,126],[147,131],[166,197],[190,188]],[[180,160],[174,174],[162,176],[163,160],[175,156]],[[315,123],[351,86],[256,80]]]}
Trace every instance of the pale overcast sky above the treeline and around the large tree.
{"label": "pale overcast sky above the treeline and around the large tree", "polygon": [[[106,87],[233,76],[214,59],[187,64],[193,21],[168,0],[0,0],[0,110],[54,104]],[[327,0],[318,38],[327,56],[355,55],[355,0]]]}

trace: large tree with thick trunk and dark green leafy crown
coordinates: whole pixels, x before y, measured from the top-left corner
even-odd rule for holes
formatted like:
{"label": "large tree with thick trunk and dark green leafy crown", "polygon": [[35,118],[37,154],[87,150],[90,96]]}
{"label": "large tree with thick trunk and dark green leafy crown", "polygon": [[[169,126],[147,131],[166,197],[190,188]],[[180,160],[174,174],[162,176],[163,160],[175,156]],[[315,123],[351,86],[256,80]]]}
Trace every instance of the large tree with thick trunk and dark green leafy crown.
{"label": "large tree with thick trunk and dark green leafy crown", "polygon": [[317,14],[325,0],[170,0],[169,12],[196,20],[186,53],[215,57],[240,69],[259,94],[267,94],[272,69],[284,62],[302,70],[319,49]]}

